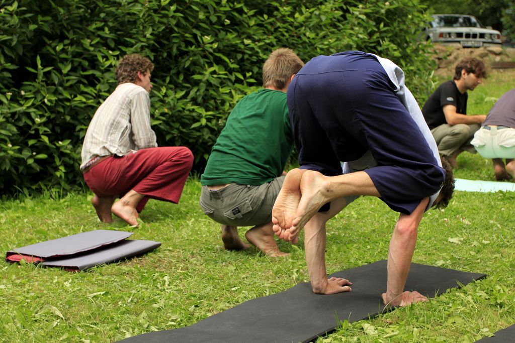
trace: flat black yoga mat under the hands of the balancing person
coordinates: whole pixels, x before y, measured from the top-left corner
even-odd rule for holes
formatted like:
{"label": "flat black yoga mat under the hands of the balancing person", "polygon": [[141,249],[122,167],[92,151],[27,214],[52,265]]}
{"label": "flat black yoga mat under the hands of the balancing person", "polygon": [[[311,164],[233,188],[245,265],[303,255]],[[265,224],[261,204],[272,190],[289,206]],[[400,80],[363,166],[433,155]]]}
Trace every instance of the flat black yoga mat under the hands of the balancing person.
{"label": "flat black yoga mat under the hands of the balancing person", "polygon": [[[308,342],[333,331],[339,321],[354,322],[384,311],[381,294],[386,290],[386,260],[331,276],[349,279],[352,292],[314,294],[311,284],[303,282],[287,291],[246,301],[189,327],[150,332],[123,342]],[[412,263],[405,289],[434,297],[458,287],[458,282],[467,284],[484,277],[485,274]]]}

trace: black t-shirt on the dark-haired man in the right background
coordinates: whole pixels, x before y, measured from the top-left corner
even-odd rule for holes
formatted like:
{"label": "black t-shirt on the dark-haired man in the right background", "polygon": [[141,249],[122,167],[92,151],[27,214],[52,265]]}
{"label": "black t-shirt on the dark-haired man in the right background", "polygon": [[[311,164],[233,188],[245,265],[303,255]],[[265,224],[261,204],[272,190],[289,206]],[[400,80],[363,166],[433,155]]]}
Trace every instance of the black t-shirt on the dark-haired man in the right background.
{"label": "black t-shirt on the dark-haired man in the right background", "polygon": [[447,123],[442,110],[444,105],[454,105],[456,113],[467,114],[467,98],[467,92],[461,94],[454,81],[442,83],[422,107],[422,114],[427,126],[434,129]]}

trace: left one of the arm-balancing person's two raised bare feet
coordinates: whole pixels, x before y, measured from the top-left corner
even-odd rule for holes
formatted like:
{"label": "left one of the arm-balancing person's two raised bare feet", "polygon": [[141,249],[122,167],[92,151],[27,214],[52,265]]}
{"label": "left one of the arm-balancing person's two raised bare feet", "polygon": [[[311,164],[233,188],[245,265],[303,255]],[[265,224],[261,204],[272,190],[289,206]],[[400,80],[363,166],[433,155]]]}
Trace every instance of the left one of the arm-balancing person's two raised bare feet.
{"label": "left one of the arm-balancing person's two raised bare feet", "polygon": [[283,186],[272,209],[273,231],[284,238],[284,232],[291,227],[300,202],[300,180],[305,169],[292,169],[284,178]]}

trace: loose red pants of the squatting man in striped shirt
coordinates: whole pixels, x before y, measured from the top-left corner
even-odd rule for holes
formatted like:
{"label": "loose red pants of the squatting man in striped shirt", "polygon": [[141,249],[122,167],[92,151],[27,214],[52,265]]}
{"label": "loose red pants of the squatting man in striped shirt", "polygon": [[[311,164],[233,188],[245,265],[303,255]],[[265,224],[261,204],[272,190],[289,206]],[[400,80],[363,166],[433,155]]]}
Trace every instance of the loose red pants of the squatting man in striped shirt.
{"label": "loose red pants of the squatting man in striped shirt", "polygon": [[148,148],[106,158],[85,172],[84,180],[99,197],[122,197],[131,189],[145,195],[136,206],[141,212],[149,198],[177,204],[192,165],[186,147]]}

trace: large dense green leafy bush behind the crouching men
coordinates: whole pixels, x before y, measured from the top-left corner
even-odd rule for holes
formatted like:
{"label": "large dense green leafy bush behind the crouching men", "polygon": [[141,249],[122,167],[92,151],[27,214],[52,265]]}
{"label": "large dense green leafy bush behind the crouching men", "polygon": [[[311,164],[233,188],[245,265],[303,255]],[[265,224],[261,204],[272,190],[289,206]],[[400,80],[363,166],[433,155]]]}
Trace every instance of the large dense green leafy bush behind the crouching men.
{"label": "large dense green leafy bush behind the crouching men", "polygon": [[159,145],[190,147],[201,171],[275,48],[291,47],[305,62],[374,52],[404,68],[415,95],[428,93],[433,65],[416,41],[426,20],[418,0],[0,0],[0,188],[83,185],[82,139],[126,53],[156,65]]}

